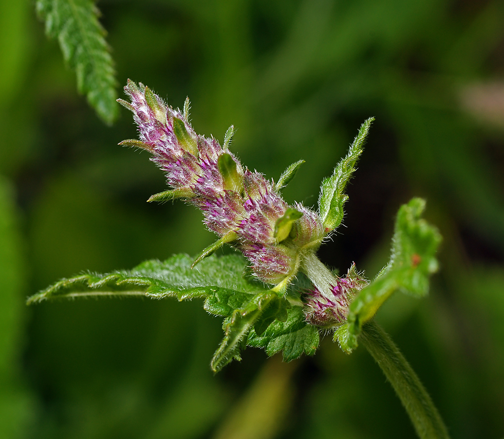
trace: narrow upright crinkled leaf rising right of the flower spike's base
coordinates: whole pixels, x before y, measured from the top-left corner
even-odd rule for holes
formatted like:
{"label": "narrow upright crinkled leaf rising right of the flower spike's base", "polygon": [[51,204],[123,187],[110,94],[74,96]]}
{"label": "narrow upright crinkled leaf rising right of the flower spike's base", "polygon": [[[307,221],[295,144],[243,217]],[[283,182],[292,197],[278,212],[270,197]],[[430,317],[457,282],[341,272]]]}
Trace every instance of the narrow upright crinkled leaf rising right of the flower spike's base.
{"label": "narrow upright crinkled leaf rising right of the flower spike's base", "polygon": [[374,118],[369,118],[360,126],[347,155],[338,163],[333,175],[322,182],[319,212],[328,232],[336,229],[343,221],[343,205],[348,199],[348,196],[344,193],[345,186],[355,171],[355,164],[362,153],[372,121],[374,121]]}

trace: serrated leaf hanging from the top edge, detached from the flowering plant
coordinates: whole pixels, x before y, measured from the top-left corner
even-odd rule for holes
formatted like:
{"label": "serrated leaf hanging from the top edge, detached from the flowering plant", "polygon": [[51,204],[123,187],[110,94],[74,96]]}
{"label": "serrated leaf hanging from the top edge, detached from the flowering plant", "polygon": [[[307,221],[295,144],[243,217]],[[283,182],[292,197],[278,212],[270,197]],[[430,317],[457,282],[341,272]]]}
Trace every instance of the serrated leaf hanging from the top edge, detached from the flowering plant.
{"label": "serrated leaf hanging from the top edge, detached from the flowering plant", "polygon": [[117,117],[116,80],[99,11],[90,0],[37,0],[45,32],[57,38],[63,58],[77,74],[77,88],[107,124]]}

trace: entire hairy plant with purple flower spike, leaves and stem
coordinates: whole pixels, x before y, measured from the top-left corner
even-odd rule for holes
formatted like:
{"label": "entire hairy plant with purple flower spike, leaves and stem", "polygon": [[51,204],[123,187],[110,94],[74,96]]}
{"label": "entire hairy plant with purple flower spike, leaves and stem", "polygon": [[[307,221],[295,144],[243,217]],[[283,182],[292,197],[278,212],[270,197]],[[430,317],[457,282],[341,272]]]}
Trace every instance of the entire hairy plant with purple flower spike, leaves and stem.
{"label": "entire hairy plant with purple flower spike, leaves and stem", "polygon": [[[264,348],[284,361],[313,355],[321,337],[350,354],[364,346],[380,365],[422,438],[448,437],[428,393],[373,316],[394,292],[421,297],[437,269],[436,228],[421,215],[425,201],[413,198],[397,213],[389,263],[366,279],[353,264],[339,277],[317,250],[341,225],[348,199],[345,187],[363,151],[372,118],[358,130],[348,153],[322,182],[318,210],[289,205],[282,189],[303,163],[288,167],[278,181],[250,171],[231,151],[234,128],[222,145],[198,135],[190,122],[190,102],[174,109],[142,83],[128,81],[129,101],[140,139],[123,146],[142,148],[165,173],[169,189],[148,201],[181,199],[200,209],[217,241],[196,258],[175,255],[146,261],[131,270],[62,279],[28,303],[58,298],[145,296],[202,299],[204,309],[223,320],[224,338],[211,360],[214,372],[240,360],[247,347]],[[213,253],[223,245],[236,252]]]}

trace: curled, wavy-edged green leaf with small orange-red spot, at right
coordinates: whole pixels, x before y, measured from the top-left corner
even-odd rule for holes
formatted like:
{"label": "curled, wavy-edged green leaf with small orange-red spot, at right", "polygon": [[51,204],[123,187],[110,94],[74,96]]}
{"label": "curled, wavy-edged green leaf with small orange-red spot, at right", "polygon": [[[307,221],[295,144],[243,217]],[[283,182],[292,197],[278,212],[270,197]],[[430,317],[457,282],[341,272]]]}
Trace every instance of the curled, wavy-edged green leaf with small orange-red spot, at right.
{"label": "curled, wavy-edged green leaf with small orange-red spot, at right", "polygon": [[395,291],[417,297],[427,294],[429,276],[437,270],[435,252],[441,236],[420,217],[424,209],[425,201],[421,198],[413,198],[399,209],[389,264],[373,283],[355,296],[349,306],[348,323],[335,335],[344,350],[356,346],[362,324]]}

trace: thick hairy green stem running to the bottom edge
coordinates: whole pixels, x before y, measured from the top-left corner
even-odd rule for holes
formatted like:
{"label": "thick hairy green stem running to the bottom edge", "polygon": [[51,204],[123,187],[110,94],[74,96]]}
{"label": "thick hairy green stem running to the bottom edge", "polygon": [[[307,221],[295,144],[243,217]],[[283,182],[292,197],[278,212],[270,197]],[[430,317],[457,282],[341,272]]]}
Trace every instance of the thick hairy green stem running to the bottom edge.
{"label": "thick hairy green stem running to the bottom edge", "polygon": [[374,321],[362,326],[362,343],[382,368],[422,439],[449,439],[443,419],[420,379],[390,336]]}

